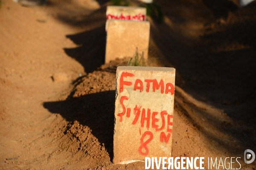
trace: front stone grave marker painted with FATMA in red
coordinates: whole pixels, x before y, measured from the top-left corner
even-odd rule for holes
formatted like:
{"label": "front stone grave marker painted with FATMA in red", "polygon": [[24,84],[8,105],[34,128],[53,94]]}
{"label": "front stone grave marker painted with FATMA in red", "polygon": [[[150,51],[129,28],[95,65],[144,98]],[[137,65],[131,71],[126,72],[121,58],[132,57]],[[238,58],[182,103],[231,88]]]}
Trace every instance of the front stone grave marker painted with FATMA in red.
{"label": "front stone grave marker painted with FATMA in red", "polygon": [[174,86],[174,68],[117,68],[114,164],[172,156]]}

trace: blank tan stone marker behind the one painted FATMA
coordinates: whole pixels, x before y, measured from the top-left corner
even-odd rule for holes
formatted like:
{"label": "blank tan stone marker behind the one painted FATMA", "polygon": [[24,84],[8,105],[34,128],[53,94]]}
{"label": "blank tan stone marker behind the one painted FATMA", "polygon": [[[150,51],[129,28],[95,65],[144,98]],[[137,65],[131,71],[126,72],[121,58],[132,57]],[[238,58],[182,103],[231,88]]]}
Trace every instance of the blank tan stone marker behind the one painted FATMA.
{"label": "blank tan stone marker behind the one painted FATMA", "polygon": [[105,63],[116,58],[133,57],[136,47],[148,58],[150,24],[148,21],[108,20]]}

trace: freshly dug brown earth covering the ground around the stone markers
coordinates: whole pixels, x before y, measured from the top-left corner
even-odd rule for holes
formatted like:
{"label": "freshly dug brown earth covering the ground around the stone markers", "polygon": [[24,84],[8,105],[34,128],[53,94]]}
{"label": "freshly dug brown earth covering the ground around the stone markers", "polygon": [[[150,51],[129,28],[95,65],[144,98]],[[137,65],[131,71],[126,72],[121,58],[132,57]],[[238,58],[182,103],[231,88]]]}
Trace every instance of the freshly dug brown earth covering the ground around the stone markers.
{"label": "freshly dug brown earth covering the ground around the stone markers", "polygon": [[[256,150],[256,3],[159,0],[151,66],[176,68],[172,156]],[[104,1],[0,8],[0,169],[137,170],[112,164],[116,67],[102,65]],[[234,167],[239,168],[239,164]]]}

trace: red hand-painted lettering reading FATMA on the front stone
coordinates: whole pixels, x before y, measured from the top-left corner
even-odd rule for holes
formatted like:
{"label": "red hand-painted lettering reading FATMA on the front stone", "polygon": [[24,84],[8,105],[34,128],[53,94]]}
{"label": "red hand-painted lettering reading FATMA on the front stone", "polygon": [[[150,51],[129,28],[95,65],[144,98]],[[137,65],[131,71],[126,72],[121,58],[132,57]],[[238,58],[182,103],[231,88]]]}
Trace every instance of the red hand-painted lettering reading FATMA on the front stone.
{"label": "red hand-painted lettering reading FATMA on the front stone", "polygon": [[[135,75],[132,73],[128,73],[123,71],[121,73],[119,79],[119,93],[124,91],[124,86],[133,86],[133,91],[138,91],[142,93],[145,90],[145,93],[151,92],[160,92],[161,94],[174,94],[174,85],[170,82],[165,82],[163,79],[145,79],[144,82],[141,79],[136,79],[135,82],[133,81],[125,81],[124,78],[134,77]],[[145,88],[145,89],[144,89]],[[143,108],[141,105],[135,105],[133,108],[133,114],[131,114],[132,108],[125,107],[124,101],[127,100],[128,96],[121,96],[120,97],[120,105],[122,106],[122,113],[118,113],[119,122],[122,122],[123,116],[128,117],[129,119],[133,119],[132,125],[136,125],[137,122],[139,123],[140,128],[145,127],[147,130],[149,128],[153,128],[156,132],[162,131],[159,136],[160,142],[169,142],[172,133],[172,119],[173,115],[168,114],[167,111],[152,111],[151,108]],[[125,103],[126,103],[125,102]],[[166,128],[165,128],[166,127]],[[163,131],[165,129],[165,131]],[[140,135],[141,135],[141,130]],[[144,142],[143,140],[149,136],[149,138]],[[141,155],[148,155],[149,149],[147,144],[153,140],[154,135],[151,131],[145,131],[140,139],[140,147],[138,151]]]}

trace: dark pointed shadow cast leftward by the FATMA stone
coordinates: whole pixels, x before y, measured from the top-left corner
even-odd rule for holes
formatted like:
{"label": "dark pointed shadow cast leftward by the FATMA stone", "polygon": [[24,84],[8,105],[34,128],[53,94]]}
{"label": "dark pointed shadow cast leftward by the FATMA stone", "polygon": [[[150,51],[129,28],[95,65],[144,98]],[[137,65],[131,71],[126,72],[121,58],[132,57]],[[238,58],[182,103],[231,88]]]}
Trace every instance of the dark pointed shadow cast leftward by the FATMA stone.
{"label": "dark pointed shadow cast leftward by the FATMA stone", "polygon": [[110,158],[113,158],[113,133],[115,91],[88,94],[58,102],[44,102],[44,108],[59,113],[67,121],[77,120],[88,126],[92,134],[104,143]]}

